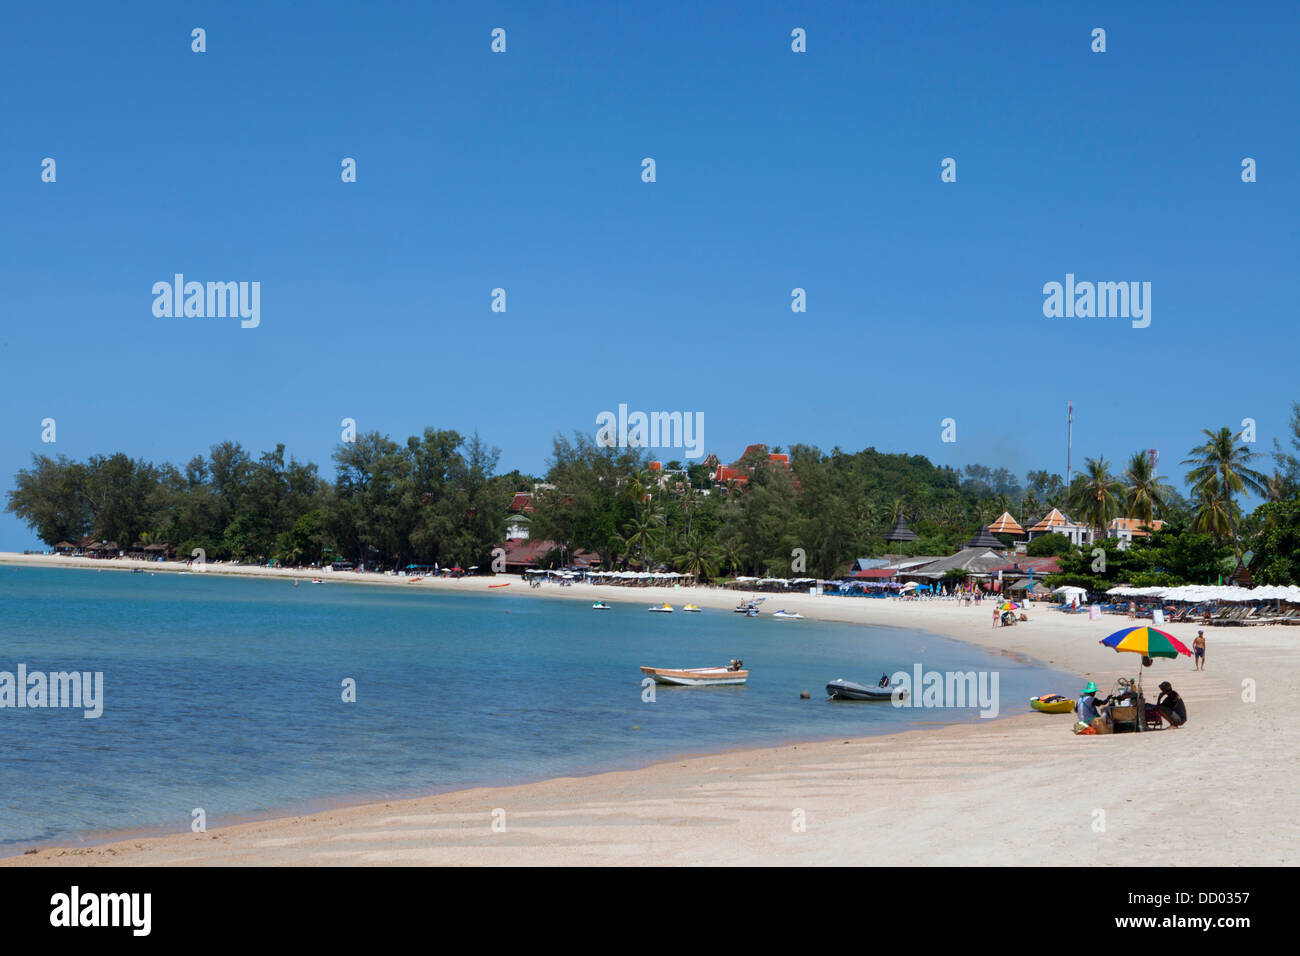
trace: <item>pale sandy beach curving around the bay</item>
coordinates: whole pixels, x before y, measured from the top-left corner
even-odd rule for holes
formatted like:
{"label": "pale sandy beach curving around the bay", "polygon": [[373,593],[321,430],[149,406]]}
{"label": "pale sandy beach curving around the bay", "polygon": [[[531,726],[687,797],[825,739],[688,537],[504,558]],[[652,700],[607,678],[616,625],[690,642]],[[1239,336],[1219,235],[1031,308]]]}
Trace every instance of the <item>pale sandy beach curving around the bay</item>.
{"label": "pale sandy beach curving around the bay", "polygon": [[[0,554],[0,564],[133,562]],[[112,571],[108,568],[112,567]],[[183,564],[139,563],[155,572]],[[712,588],[546,585],[517,578],[426,580],[209,564],[204,574],[322,578],[330,584],[508,593],[728,610]],[[510,588],[489,589],[510,580]],[[1127,619],[1031,605],[1031,620],[991,628],[991,610],[953,602],[774,596],[807,618],[906,626],[1024,654],[1109,689],[1138,658],[1097,641]],[[792,628],[798,623],[789,624]],[[1191,644],[1192,624],[1167,630]],[[1300,628],[1209,627],[1208,670],[1156,661],[1186,727],[1075,736],[1072,718],[1024,713],[863,740],[684,757],[641,770],[468,790],[243,823],[204,834],[46,848],[0,865],[1291,865],[1300,845],[1296,771]],[[991,665],[993,666],[993,665]],[[864,675],[870,676],[870,675]],[[1245,689],[1253,689],[1253,700]],[[805,688],[792,688],[792,692]],[[822,688],[809,706],[819,706]],[[1043,688],[1074,695],[1078,687]],[[1027,709],[1027,705],[1026,705]],[[1008,713],[1004,710],[1004,713]],[[802,823],[802,826],[800,826]]]}

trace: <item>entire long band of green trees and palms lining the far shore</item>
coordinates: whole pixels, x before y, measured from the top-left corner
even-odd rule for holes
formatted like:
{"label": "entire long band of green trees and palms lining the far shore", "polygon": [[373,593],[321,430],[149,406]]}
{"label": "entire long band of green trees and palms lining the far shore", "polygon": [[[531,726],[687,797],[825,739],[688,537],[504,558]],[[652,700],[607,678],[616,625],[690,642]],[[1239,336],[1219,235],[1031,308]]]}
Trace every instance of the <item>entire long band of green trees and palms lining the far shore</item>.
{"label": "entire long band of green trees and palms lining the far shore", "polygon": [[[1300,406],[1291,425],[1300,451]],[[49,545],[90,536],[124,549],[166,542],[182,557],[203,548],[209,559],[488,568],[504,541],[515,493],[529,492],[529,537],[556,545],[543,563],[569,563],[586,551],[604,567],[666,566],[707,580],[832,578],[858,557],[949,554],[1004,511],[1028,528],[1058,507],[1096,528],[1114,516],[1162,518],[1169,528],[1160,546],[1182,537],[1180,546],[1196,551],[1176,559],[1174,551],[1148,554],[1141,567],[1113,559],[1110,566],[1124,574],[1204,581],[1225,555],[1231,572],[1245,545],[1256,551],[1252,570],[1269,566],[1274,580],[1288,579],[1300,570],[1291,564],[1300,549],[1286,554],[1300,460],[1278,447],[1275,471],[1264,475],[1252,467],[1261,455],[1240,434],[1223,428],[1204,437],[1183,462],[1190,466],[1187,498],[1156,473],[1144,451],[1134,453],[1123,471],[1104,458],[1086,459],[1069,485],[1046,471],[1028,472],[1022,485],[1004,468],[957,471],[875,449],[823,453],[794,445],[786,466],[758,446],[736,463],[748,480],[715,484],[705,464],[667,462],[651,470],[644,450],[602,447],[582,434],[556,436],[540,476],[498,475],[499,451],[477,434],[429,428],[404,444],[377,432],[341,444],[332,481],[316,464],[286,462],[283,445],[254,458],[222,442],[183,468],[125,454],[84,462],[34,455],[31,468],[17,475],[8,510]],[[1245,492],[1268,503],[1243,514]],[[918,538],[887,545],[883,536],[900,516]],[[1050,548],[1076,557],[1053,541],[1035,542],[1034,550]],[[1082,566],[1070,564],[1070,572],[1096,576]],[[1114,583],[1114,575],[1101,580]]]}

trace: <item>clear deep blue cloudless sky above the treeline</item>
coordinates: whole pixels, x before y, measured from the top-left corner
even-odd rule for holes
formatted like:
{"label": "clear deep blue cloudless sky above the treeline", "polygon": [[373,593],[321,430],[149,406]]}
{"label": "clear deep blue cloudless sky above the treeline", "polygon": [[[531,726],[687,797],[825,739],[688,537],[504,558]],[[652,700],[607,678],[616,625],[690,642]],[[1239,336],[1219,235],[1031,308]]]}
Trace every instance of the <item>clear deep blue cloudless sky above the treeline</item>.
{"label": "clear deep blue cloudless sky above the treeline", "polygon": [[[332,475],[343,418],[540,471],[619,403],[703,412],[724,460],[1023,477],[1063,471],[1074,399],[1075,463],[1180,477],[1202,427],[1268,451],[1300,399],[1294,4],[472,7],[5,8],[0,489],[226,438]],[[177,272],[259,281],[260,326],[155,317]],[[1149,281],[1150,326],[1044,317],[1066,273]]]}

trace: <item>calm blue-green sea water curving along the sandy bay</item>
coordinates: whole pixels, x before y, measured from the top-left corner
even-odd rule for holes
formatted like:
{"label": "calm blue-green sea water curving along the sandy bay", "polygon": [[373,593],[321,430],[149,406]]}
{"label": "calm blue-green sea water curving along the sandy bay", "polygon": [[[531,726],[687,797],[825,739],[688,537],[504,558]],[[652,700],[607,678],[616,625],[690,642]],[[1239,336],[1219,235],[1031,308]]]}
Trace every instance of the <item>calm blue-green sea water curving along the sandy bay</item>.
{"label": "calm blue-green sea water curving along the sandy bay", "polygon": [[[211,827],[339,799],[978,719],[824,700],[827,680],[874,683],[914,662],[998,671],[1004,715],[1067,687],[1023,658],[924,632],[647,614],[642,601],[593,611],[511,593],[517,584],[488,596],[419,587],[0,567],[0,671],[104,672],[99,719],[0,710],[0,855],[108,830],[186,830],[196,806]],[[659,687],[654,704],[641,700],[642,663],[731,657],[750,667],[748,687]],[[355,704],[341,700],[344,678]]]}

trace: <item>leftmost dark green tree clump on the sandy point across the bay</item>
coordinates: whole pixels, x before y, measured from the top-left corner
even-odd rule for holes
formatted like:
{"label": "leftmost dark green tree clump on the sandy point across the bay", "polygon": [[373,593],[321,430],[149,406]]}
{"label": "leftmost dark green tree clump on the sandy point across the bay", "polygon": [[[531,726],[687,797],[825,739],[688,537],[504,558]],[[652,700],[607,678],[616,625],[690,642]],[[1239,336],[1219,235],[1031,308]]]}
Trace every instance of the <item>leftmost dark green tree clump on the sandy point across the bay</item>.
{"label": "leftmost dark green tree clump on the sandy point across the bay", "polygon": [[497,455],[455,432],[428,429],[404,447],[370,433],[338,447],[333,486],[315,464],[286,462],[283,445],[255,460],[221,442],[183,472],[122,454],[35,457],[8,510],[51,545],[90,535],[122,549],[169,542],[181,557],[202,548],[214,561],[469,567],[490,561],[508,496],[524,484],[517,472],[494,476]]}

